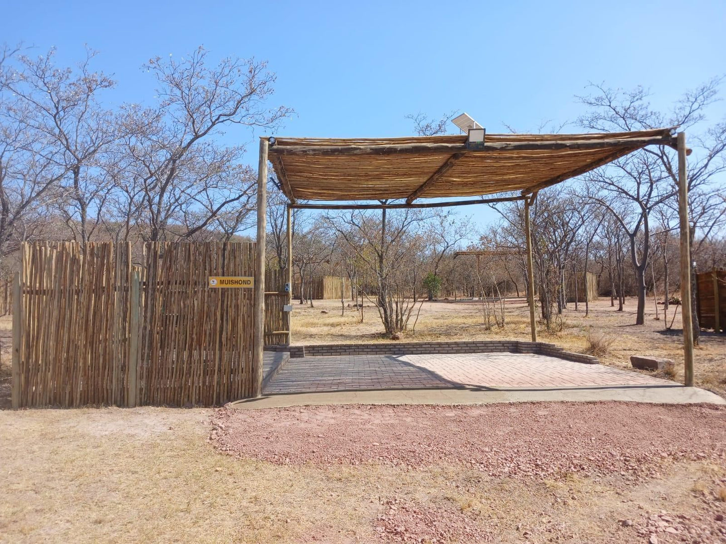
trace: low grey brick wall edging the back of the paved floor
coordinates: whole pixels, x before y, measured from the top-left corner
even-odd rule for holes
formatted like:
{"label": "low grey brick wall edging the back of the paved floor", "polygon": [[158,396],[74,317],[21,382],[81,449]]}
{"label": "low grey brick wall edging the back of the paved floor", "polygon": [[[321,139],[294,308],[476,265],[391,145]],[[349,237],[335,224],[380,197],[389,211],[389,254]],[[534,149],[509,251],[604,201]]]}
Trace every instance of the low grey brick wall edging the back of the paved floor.
{"label": "low grey brick wall edging the back of the paved floor", "polygon": [[462,340],[452,342],[380,342],[377,344],[315,344],[266,346],[268,351],[285,351],[290,358],[335,355],[424,355],[444,353],[537,353],[577,363],[597,364],[592,355],[572,353],[547,342],[523,340]]}

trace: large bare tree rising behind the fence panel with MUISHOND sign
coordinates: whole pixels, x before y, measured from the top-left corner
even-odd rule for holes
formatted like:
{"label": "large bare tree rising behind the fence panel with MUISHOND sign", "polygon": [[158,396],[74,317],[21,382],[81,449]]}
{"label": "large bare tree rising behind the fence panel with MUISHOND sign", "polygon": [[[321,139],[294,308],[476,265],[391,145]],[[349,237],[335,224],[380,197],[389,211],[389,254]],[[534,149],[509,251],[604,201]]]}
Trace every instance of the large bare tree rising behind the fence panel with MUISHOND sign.
{"label": "large bare tree rising behind the fence panel with MUISHOND sign", "polygon": [[253,194],[245,147],[211,137],[229,125],[272,128],[292,112],[266,108],[275,76],[265,62],[227,58],[208,67],[207,57],[200,47],[180,62],[151,59],[144,67],[157,78],[160,104],[124,112],[123,145],[142,191],[139,221],[152,241],[194,236],[220,215],[244,217]]}

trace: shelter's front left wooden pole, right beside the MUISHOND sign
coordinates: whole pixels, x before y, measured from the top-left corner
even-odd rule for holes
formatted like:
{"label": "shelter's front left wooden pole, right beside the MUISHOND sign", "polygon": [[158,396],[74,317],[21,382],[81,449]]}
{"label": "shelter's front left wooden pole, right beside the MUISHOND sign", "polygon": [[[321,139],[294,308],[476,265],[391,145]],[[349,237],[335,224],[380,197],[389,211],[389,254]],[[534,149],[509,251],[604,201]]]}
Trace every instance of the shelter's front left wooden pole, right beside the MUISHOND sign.
{"label": "shelter's front left wooden pole, right beside the MUISHOND sign", "polygon": [[253,397],[262,395],[262,366],[265,343],[265,235],[267,227],[267,149],[269,141],[260,139],[257,170],[257,245],[255,258],[255,345],[253,348]]}

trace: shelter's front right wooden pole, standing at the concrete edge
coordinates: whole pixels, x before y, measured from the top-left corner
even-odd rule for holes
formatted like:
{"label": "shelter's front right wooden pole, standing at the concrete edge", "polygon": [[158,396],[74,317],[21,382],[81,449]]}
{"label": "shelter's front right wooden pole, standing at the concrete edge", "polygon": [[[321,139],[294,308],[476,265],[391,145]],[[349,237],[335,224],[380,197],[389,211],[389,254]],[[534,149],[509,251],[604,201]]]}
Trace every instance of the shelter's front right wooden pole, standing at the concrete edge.
{"label": "shelter's front right wooden pole, standing at the concrete edge", "polygon": [[684,383],[693,387],[693,321],[690,301],[690,233],[688,225],[688,176],[686,175],[685,132],[678,142],[678,217],[680,219],[681,318],[683,321]]}

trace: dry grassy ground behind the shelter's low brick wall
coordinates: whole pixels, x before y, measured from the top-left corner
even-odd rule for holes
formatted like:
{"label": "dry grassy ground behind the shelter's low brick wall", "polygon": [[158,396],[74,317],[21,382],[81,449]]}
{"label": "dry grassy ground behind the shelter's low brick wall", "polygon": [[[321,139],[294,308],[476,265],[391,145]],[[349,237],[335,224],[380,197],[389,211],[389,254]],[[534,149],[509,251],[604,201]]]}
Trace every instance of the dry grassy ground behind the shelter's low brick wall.
{"label": "dry grassy ground behind the shelter's low brick wall", "polygon": [[[349,302],[346,301],[346,305]],[[575,310],[573,302],[564,310],[559,330],[547,331],[539,323],[539,339],[565,347],[578,353],[588,353],[588,334],[603,336],[612,342],[608,353],[600,356],[604,364],[621,368],[632,368],[630,355],[653,355],[670,358],[676,363],[677,382],[683,381],[683,341],[680,309],[672,323],[672,330],[666,331],[663,307],[658,310],[656,321],[653,301],[646,306],[645,324],[635,325],[635,299],[627,299],[625,309],[617,311],[610,305],[610,299],[590,302],[590,315],[585,317],[584,304]],[[671,325],[674,306],[668,311]],[[340,300],[317,300],[314,307],[293,305],[293,343],[325,344],[351,342],[388,342],[382,334],[382,326],[375,306],[364,305],[364,321],[360,323],[359,313],[354,308],[345,308],[341,314]],[[454,302],[441,300],[424,302],[415,324],[416,312],[409,321],[409,331],[402,339],[466,340],[466,339],[521,339],[529,340],[529,307],[523,299],[507,300],[505,305],[505,326],[486,329],[481,302]],[[694,363],[696,386],[726,396],[726,334],[701,332],[701,341],[696,347]]]}

